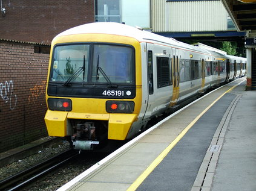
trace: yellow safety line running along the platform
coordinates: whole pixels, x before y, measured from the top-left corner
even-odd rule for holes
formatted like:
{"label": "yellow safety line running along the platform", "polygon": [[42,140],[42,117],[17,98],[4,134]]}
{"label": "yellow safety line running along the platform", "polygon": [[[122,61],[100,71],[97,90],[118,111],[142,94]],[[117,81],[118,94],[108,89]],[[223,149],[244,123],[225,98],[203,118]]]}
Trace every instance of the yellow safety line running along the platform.
{"label": "yellow safety line running along the platform", "polygon": [[[245,80],[243,80],[245,81]],[[137,187],[140,186],[140,184],[146,179],[146,177],[148,177],[149,174],[151,174],[151,172],[158,166],[158,164],[160,164],[160,162],[163,160],[163,158],[166,157],[166,155],[171,151],[172,148],[174,148],[174,146],[180,141],[180,139],[182,139],[183,136],[185,136],[185,134],[188,132],[188,130],[195,124],[195,122],[197,122],[200,117],[203,116],[203,114],[206,113],[206,111],[209,110],[209,108],[212,107],[212,105],[215,104],[215,102],[217,102],[220,98],[222,98],[226,93],[231,92],[231,90],[233,90],[235,87],[237,87],[239,84],[243,83],[243,81],[241,81],[240,83],[236,84],[235,86],[231,87],[229,90],[227,90],[225,93],[223,93],[221,96],[219,96],[217,99],[215,99],[214,102],[212,102],[208,107],[205,108],[205,110],[202,111],[202,113],[199,114],[199,116],[197,116],[183,131],[182,133],[179,134],[179,136],[176,137],[176,139],[174,139],[169,146],[167,146],[165,148],[165,150],[163,150],[163,152],[153,161],[153,163],[151,163],[148,168],[136,179],[136,181],[134,181],[133,184],[131,184],[131,186],[127,189],[128,191],[131,190],[136,190]]]}

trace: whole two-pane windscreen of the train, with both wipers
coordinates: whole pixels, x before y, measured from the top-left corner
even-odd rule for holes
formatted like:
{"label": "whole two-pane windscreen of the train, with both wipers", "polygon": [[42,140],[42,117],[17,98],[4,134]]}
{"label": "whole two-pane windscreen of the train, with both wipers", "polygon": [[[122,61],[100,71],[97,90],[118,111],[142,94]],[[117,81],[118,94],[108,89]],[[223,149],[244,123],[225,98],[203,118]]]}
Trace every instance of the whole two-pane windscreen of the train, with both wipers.
{"label": "whole two-pane windscreen of the train, with both wipers", "polygon": [[50,81],[133,84],[134,49],[111,44],[61,45],[53,51]]}

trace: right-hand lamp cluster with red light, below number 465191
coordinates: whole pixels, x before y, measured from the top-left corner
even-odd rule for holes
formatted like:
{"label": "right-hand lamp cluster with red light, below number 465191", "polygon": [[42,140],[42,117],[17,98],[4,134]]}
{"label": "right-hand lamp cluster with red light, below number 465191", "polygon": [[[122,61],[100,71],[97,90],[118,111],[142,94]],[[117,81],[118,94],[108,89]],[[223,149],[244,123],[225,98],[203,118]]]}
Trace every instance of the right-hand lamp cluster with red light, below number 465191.
{"label": "right-hand lamp cluster with red light, below number 465191", "polygon": [[133,113],[133,101],[107,101],[106,111],[108,113]]}

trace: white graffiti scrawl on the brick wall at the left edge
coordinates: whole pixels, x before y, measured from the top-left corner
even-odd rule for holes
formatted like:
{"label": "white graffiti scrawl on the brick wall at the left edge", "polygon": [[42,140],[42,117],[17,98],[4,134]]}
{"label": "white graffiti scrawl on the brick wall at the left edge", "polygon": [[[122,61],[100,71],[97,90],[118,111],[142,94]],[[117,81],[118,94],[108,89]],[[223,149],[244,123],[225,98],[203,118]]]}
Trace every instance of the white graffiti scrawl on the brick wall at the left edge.
{"label": "white graffiti scrawl on the brick wall at the left edge", "polygon": [[13,94],[13,81],[0,83],[0,96],[5,104],[10,105],[10,110],[14,110],[17,104],[17,96]]}

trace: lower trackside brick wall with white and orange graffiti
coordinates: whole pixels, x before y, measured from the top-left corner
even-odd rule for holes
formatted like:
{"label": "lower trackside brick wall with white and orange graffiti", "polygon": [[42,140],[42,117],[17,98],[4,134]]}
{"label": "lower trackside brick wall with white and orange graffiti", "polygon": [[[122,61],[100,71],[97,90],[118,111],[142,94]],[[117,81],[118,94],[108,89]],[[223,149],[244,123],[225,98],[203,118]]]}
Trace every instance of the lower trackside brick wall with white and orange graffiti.
{"label": "lower trackside brick wall with white and orange graffiti", "polygon": [[0,152],[47,136],[48,60],[31,43],[0,40]]}

